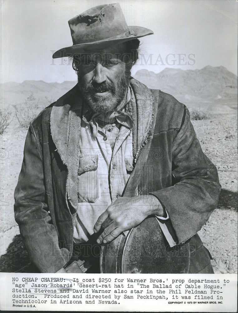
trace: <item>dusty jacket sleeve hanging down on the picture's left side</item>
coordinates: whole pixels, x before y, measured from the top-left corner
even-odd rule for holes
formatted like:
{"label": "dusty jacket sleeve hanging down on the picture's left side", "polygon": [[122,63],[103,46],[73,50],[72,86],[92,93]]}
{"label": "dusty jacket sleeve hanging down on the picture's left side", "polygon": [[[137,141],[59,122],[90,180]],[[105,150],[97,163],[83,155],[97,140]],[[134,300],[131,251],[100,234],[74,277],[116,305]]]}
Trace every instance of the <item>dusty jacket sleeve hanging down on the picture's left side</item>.
{"label": "dusty jacket sleeve hanging down on the picture's left side", "polygon": [[59,248],[57,232],[51,223],[45,202],[42,159],[31,127],[14,198],[15,220],[30,258],[41,272],[55,273],[67,263],[69,251]]}

